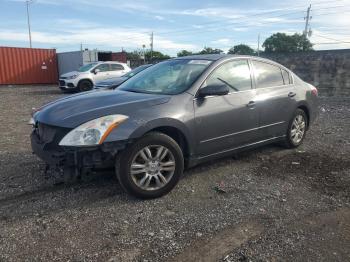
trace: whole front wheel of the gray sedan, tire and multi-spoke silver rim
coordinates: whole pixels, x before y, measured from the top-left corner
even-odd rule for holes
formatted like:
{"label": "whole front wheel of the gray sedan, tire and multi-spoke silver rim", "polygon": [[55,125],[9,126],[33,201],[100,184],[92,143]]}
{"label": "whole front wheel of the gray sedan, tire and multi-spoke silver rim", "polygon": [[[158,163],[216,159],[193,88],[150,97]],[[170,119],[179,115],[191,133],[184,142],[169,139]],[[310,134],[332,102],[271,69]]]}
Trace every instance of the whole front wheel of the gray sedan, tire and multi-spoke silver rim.
{"label": "whole front wheel of the gray sedan, tire and multi-spoke silver rim", "polygon": [[184,158],[174,139],[152,132],[121,152],[116,158],[115,169],[119,183],[127,193],[137,198],[157,198],[176,186],[183,173]]}

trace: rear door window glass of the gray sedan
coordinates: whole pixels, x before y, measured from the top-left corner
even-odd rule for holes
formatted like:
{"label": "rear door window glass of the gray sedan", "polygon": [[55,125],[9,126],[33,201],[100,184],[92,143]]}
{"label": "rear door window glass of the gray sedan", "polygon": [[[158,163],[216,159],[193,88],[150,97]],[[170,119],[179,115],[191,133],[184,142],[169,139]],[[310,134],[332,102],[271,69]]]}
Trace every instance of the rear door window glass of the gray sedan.
{"label": "rear door window glass of the gray sedan", "polygon": [[260,61],[252,61],[255,69],[257,88],[283,86],[280,67]]}

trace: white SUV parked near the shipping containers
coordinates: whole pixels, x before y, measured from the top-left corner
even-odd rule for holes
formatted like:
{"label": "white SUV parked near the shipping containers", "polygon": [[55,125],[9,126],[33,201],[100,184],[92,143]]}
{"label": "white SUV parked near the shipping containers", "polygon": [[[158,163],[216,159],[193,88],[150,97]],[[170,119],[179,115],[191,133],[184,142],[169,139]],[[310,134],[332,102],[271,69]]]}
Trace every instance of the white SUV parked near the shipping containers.
{"label": "white SUV parked near the shipping containers", "polygon": [[63,91],[88,91],[96,82],[122,76],[130,70],[127,64],[119,62],[90,63],[80,67],[78,71],[61,75],[59,87]]}

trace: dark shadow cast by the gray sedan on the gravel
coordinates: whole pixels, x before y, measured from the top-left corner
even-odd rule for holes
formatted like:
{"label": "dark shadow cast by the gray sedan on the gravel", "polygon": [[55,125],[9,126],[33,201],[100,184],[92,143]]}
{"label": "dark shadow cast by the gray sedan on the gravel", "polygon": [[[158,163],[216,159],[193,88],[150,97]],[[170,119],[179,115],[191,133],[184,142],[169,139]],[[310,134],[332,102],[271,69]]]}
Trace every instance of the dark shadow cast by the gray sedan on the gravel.
{"label": "dark shadow cast by the gray sedan on the gravel", "polygon": [[[231,157],[203,163],[187,169],[182,179],[186,180],[194,175],[200,175],[209,168],[212,170],[218,169],[227,165],[228,160],[234,161],[235,159],[239,159],[243,161],[252,161],[259,154],[266,155],[280,149],[279,146],[269,145],[234,154]],[[30,163],[30,165],[34,165],[33,172],[35,172],[35,174],[33,175],[41,176],[39,178],[37,177],[38,180],[45,179],[43,171],[44,165],[38,165],[38,162]],[[38,170],[38,166],[40,170]],[[28,179],[28,177],[21,177],[21,179],[25,180]],[[101,201],[112,201],[116,203],[147,201],[127,195],[120,187],[113,170],[98,172],[87,182],[53,183],[52,179],[49,179],[49,183],[45,183],[34,190],[28,190],[7,197],[5,196],[0,199],[0,220],[13,221],[37,214],[48,215],[63,210],[92,206],[94,203]]]}

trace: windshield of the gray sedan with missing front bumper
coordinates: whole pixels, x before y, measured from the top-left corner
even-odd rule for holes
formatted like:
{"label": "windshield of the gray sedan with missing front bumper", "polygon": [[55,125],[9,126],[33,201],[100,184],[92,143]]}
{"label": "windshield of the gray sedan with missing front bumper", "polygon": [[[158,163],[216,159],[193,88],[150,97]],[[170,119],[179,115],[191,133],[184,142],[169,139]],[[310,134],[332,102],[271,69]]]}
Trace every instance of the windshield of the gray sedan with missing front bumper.
{"label": "windshield of the gray sedan with missing front bumper", "polygon": [[168,60],[140,72],[118,89],[150,94],[180,94],[190,88],[210,63],[209,60]]}

